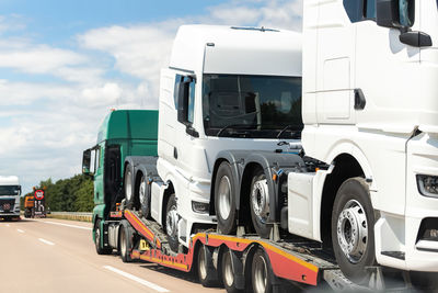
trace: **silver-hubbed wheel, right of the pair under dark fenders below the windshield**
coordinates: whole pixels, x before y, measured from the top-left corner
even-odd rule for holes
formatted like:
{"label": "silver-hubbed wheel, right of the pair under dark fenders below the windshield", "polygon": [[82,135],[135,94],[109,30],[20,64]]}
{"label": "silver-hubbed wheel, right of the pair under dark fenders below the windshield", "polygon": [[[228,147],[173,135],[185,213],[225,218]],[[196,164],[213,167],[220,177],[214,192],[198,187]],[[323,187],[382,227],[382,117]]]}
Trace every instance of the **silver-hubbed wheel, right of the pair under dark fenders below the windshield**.
{"label": "silver-hubbed wheel, right of the pair under dark fenders below the windshield", "polygon": [[254,228],[261,237],[268,238],[272,229],[272,225],[267,224],[270,214],[269,190],[262,169],[255,171],[250,192],[251,218]]}

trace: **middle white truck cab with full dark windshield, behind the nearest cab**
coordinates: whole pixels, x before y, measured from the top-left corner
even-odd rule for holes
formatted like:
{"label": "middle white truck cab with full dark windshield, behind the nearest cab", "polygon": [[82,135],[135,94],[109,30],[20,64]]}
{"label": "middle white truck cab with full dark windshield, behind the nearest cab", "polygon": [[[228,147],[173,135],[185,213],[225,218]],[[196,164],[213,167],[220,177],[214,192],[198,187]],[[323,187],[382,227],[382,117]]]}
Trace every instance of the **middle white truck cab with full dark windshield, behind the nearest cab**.
{"label": "middle white truck cab with full dark windshield, behind the nearest cab", "polygon": [[[218,222],[219,229],[230,232],[239,191],[231,190],[230,177],[215,184],[227,160],[220,153],[273,150],[281,148],[279,140],[299,140],[300,108],[300,34],[181,26],[161,74],[157,169],[164,184],[152,184],[152,218],[185,246],[206,224]],[[220,214],[215,193],[226,203]]]}

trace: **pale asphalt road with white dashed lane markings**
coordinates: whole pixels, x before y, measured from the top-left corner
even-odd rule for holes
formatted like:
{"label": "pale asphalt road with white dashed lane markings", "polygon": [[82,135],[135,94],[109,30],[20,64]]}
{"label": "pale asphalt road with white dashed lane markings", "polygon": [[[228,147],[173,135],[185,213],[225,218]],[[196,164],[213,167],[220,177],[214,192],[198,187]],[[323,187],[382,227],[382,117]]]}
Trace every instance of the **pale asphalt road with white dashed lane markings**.
{"label": "pale asphalt road with white dashed lane markings", "polygon": [[99,256],[91,224],[62,219],[0,222],[0,292],[224,292],[187,273]]}

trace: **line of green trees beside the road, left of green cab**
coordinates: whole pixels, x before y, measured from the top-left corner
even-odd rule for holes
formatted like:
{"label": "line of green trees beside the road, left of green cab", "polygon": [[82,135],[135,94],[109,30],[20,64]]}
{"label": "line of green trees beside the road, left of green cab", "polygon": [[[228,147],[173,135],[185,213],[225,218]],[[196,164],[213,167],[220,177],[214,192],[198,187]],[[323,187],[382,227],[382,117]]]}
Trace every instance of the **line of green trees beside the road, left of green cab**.
{"label": "line of green trees beside the road, left of green cab", "polygon": [[[46,207],[51,212],[93,211],[93,181],[90,177],[77,174],[56,182],[49,178],[35,188],[45,189]],[[33,195],[33,192],[25,195],[28,194]]]}

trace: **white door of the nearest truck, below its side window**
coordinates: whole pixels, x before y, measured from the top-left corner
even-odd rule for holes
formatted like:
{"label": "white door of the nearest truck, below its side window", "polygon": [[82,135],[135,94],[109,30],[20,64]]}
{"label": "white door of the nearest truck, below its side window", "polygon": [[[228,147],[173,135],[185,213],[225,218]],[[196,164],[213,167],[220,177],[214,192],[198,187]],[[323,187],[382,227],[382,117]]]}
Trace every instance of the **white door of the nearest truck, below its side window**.
{"label": "white door of the nearest truck, below its side window", "polygon": [[[410,111],[416,108],[410,87],[418,82],[419,48],[400,42],[400,30],[378,26],[376,0],[349,0],[362,2],[361,18],[356,27],[355,88],[360,89],[366,100],[364,110],[357,111],[358,124],[374,124],[380,129],[410,133],[413,126]],[[419,5],[417,8],[419,11]],[[419,18],[412,30],[418,31]],[[397,123],[400,122],[400,123]],[[399,125],[396,125],[399,124]],[[403,129],[406,125],[406,129]],[[394,128],[395,127],[395,128]],[[400,127],[397,129],[396,127]]]}

